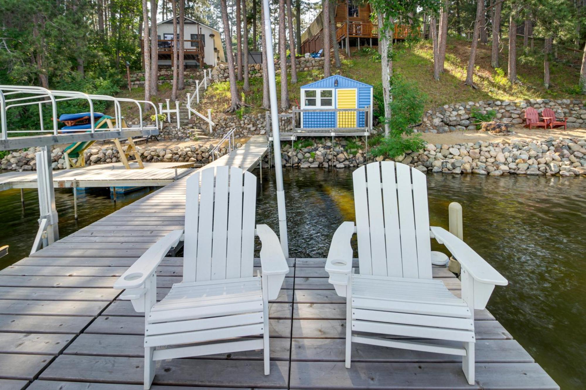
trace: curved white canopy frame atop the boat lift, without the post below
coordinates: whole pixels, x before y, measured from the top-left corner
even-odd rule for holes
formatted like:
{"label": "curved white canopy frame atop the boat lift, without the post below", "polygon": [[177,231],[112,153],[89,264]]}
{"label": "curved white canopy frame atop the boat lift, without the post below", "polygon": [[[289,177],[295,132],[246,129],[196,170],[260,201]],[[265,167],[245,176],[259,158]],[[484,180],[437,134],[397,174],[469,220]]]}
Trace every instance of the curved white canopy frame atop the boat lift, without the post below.
{"label": "curved white canopy frame atop the boat lift, without the post below", "polygon": [[[86,100],[90,112],[90,128],[85,132],[74,134],[59,134],[57,127],[57,103],[67,100]],[[94,100],[114,102],[114,129],[96,129],[94,122]],[[122,127],[121,102],[131,102],[138,106],[140,123],[137,127]],[[151,105],[155,113],[155,124],[145,125],[142,121],[142,104]],[[43,119],[43,104],[50,104],[52,109],[52,129],[46,129]],[[39,128],[30,130],[9,130],[7,111],[12,107],[38,105]],[[78,91],[47,90],[42,87],[23,85],[0,85],[0,150],[32,148],[34,146],[49,146],[59,143],[80,141],[98,141],[131,136],[149,136],[159,134],[159,119],[156,105],[150,101],[134,100],[130,98],[115,98],[108,95],[86,94]],[[39,135],[30,135],[31,133]],[[23,136],[9,136],[11,134],[25,134]]]}

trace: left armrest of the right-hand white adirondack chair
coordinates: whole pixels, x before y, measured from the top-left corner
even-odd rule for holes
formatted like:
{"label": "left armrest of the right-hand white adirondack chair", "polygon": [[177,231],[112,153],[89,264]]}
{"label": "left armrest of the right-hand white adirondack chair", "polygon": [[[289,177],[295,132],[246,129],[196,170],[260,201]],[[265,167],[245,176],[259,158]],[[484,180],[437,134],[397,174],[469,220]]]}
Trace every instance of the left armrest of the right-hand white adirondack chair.
{"label": "left armrest of the right-hand white adirondack chair", "polygon": [[352,273],[352,245],[350,240],[355,233],[353,222],[343,222],[332,237],[332,244],[326,259],[328,282],[332,283],[339,296],[346,296],[346,286]]}

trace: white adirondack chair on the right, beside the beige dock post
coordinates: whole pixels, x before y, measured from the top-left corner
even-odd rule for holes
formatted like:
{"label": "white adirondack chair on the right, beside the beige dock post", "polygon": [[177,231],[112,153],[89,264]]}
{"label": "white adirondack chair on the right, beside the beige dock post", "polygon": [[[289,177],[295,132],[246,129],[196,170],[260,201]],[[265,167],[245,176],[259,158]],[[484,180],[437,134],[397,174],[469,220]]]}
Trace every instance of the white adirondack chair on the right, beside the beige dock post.
{"label": "white adirondack chair on the right, beside the beige dock post", "polygon": [[[329,282],[346,297],[346,367],[352,342],[454,354],[462,356],[466,379],[474,384],[474,309],[484,309],[495,285],[505,286],[507,280],[458,237],[430,227],[424,173],[404,164],[374,162],[355,170],[353,182],[356,228],[352,222],[340,225],[326,262]],[[360,273],[352,272],[350,238],[355,232]],[[460,262],[461,299],[432,280],[430,238]]]}

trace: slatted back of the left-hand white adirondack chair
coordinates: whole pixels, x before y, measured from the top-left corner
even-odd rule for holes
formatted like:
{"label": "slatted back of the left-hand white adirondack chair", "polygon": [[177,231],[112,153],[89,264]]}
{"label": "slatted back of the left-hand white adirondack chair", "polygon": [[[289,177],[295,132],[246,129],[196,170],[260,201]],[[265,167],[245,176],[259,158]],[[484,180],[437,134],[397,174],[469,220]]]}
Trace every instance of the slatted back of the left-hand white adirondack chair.
{"label": "slatted back of the left-hand white adirondack chair", "polygon": [[189,177],[183,282],[253,276],[256,180],[227,166]]}

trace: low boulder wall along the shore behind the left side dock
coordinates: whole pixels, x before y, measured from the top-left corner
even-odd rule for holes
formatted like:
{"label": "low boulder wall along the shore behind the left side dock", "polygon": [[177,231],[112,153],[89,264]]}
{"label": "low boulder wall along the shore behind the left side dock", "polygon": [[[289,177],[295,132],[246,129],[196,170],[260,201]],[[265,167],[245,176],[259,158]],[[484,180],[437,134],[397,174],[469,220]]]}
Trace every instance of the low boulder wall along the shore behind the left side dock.
{"label": "low boulder wall along the shore behind the left side dock", "polygon": [[[240,148],[240,143],[236,144]],[[173,148],[156,148],[147,144],[137,145],[138,153],[144,162],[190,162],[206,164],[212,161],[210,150],[214,145],[189,145],[189,146],[173,146]],[[30,148],[29,150],[14,151],[2,159],[0,165],[2,169],[9,170],[35,170],[36,156],[35,153],[40,151],[40,148]],[[221,148],[214,152],[216,158],[225,155],[226,148]],[[64,169],[65,159],[63,150],[60,148],[53,149],[51,153],[53,169]],[[115,163],[120,161],[120,153],[115,146],[93,146],[84,153],[86,165],[97,165]]]}

